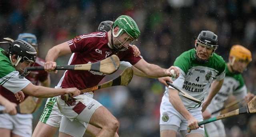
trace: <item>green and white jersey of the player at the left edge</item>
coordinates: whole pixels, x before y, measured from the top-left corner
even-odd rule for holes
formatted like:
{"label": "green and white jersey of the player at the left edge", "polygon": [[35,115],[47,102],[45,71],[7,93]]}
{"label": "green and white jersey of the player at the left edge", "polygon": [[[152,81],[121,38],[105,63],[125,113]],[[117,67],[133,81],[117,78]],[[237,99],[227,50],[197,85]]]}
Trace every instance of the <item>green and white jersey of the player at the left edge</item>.
{"label": "green and white jersey of the player at the left edge", "polygon": [[2,53],[4,50],[0,48],[0,85],[6,89],[17,93],[24,89],[30,81],[24,77],[20,77],[10,60]]}

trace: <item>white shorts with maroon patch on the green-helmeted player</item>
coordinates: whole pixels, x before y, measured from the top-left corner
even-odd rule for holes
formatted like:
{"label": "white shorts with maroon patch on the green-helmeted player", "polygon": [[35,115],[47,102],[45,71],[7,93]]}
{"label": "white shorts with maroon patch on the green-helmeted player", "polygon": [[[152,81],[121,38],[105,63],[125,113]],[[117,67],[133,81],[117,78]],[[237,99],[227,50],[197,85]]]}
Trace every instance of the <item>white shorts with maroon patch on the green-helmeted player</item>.
{"label": "white shorts with maroon patch on the green-helmeted player", "polygon": [[64,101],[63,96],[58,96],[57,103],[65,117],[71,121],[76,119],[81,123],[89,123],[94,111],[102,106],[98,101],[84,94],[72,97],[68,101]]}

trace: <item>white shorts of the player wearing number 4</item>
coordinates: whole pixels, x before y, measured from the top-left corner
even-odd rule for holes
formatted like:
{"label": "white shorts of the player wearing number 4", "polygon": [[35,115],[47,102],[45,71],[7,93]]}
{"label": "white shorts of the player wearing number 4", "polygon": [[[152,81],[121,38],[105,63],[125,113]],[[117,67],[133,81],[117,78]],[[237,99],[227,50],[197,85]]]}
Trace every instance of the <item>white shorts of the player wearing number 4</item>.
{"label": "white shorts of the player wearing number 4", "polygon": [[[198,121],[203,121],[202,111],[198,112],[190,112]],[[178,129],[171,128],[172,126],[168,125],[175,125]],[[162,98],[162,102],[160,105],[160,129],[161,130],[174,130],[178,131],[186,131],[188,128],[188,121],[180,114],[170,101]],[[204,128],[199,127],[199,129],[192,130],[190,133],[186,132],[187,134],[191,133],[201,133],[204,135]]]}

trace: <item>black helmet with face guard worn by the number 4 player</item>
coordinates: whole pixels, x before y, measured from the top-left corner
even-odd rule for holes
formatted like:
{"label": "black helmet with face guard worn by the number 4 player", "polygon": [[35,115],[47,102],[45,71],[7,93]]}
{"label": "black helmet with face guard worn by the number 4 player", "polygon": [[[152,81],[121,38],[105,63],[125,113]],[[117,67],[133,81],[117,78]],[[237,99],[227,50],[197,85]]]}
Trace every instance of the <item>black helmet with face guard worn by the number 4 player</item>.
{"label": "black helmet with face guard worn by the number 4 player", "polygon": [[[210,55],[210,57],[208,59],[202,60],[196,54],[194,55],[196,60],[198,60],[200,62],[208,62],[208,60],[213,56],[215,50],[218,48],[218,45],[217,45],[218,44],[218,36],[211,31],[203,30],[198,35],[196,43],[197,43],[196,47],[200,44],[201,46],[212,49],[212,54]],[[197,52],[196,48],[195,48],[195,50]]]}

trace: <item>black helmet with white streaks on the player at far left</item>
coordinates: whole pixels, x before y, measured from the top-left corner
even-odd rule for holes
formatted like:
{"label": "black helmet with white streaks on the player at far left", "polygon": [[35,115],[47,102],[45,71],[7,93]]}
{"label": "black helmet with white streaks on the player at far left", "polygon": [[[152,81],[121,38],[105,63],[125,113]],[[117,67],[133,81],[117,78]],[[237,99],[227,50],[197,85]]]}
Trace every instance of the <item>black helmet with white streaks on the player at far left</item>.
{"label": "black helmet with white streaks on the player at far left", "polygon": [[[25,60],[33,63],[36,62],[36,50],[24,40],[15,40],[12,42],[8,50],[8,55],[14,66],[17,66],[19,62],[24,62]],[[12,62],[12,55],[18,56],[16,64]]]}

